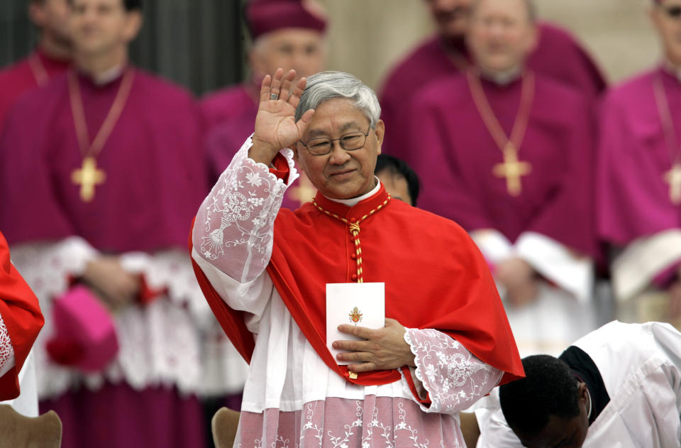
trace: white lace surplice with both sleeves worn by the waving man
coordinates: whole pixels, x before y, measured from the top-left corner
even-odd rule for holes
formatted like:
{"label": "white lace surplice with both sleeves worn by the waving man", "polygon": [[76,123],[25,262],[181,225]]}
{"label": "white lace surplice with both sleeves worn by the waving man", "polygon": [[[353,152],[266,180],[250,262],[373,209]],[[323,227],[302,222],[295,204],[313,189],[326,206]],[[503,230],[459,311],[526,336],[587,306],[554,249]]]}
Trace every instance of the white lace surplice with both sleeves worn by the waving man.
{"label": "white lace surplice with both sleeves worn by the waving man", "polygon": [[[463,447],[458,412],[489,392],[503,372],[446,334],[408,329],[414,398],[404,378],[355,386],[331,371],[284,306],[265,268],[287,185],[248,158],[250,139],[199,210],[192,256],[256,334],[238,447]],[[296,177],[291,151],[289,185]],[[380,215],[377,215],[379,217]]]}

